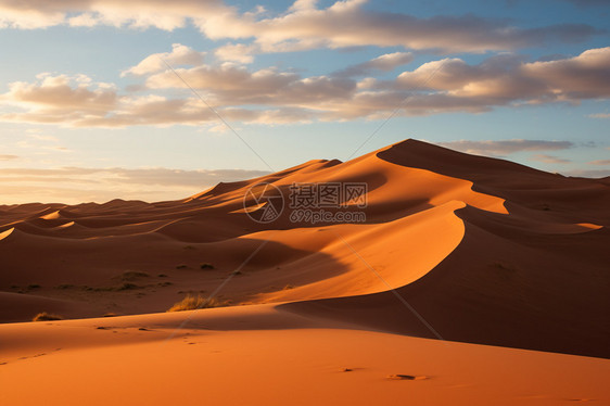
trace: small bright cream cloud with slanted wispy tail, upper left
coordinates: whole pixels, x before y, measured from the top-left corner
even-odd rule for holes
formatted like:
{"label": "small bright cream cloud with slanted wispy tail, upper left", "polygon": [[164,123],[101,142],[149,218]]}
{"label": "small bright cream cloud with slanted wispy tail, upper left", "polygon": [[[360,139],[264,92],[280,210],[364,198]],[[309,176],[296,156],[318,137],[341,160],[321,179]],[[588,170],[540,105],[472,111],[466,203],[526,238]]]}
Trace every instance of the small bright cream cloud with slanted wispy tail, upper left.
{"label": "small bright cream cloud with slanted wispy tail, upper left", "polygon": [[205,52],[198,52],[187,46],[174,43],[171,45],[171,52],[153,53],[143,59],[136,66],[124,71],[120,76],[127,76],[129,74],[142,76],[165,71],[167,69],[166,63],[171,67],[177,67],[179,65],[200,65],[203,63],[204,55]]}

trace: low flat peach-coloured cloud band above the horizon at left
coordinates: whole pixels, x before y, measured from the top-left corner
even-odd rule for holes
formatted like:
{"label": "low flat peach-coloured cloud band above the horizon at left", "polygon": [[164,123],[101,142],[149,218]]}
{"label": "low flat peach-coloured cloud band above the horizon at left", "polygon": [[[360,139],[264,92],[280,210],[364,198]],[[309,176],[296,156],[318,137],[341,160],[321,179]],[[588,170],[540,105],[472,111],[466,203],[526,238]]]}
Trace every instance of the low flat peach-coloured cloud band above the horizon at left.
{"label": "low flat peach-coloured cloud band above the horizon at left", "polygon": [[267,175],[263,170],[182,170],[170,168],[56,169],[0,168],[0,204],[36,201],[62,203],[105,202],[112,199],[147,201],[177,200],[199,193],[224,181]]}

